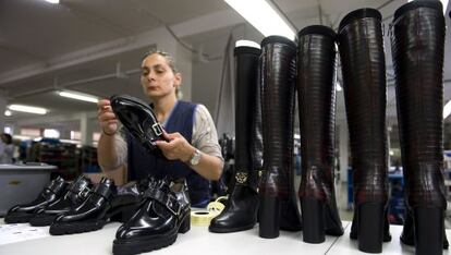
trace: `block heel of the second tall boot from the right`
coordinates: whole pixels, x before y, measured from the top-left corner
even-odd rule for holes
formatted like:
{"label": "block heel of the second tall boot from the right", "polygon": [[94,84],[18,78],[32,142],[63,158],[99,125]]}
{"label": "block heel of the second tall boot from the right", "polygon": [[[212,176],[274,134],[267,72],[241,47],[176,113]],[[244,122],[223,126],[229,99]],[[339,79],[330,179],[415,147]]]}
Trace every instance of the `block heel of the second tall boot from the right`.
{"label": "block heel of the second tall boot from the right", "polygon": [[364,253],[381,253],[383,241],[383,211],[381,203],[365,203],[358,210],[358,250]]}

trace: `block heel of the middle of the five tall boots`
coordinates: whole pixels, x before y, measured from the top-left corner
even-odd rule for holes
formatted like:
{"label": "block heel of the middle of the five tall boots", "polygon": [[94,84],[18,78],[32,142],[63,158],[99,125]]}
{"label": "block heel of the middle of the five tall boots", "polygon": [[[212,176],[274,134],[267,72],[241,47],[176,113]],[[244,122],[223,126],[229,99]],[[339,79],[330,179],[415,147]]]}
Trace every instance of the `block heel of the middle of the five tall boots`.
{"label": "block heel of the middle of the five tall boots", "polygon": [[303,241],[322,243],[326,240],[325,203],[318,199],[302,198]]}

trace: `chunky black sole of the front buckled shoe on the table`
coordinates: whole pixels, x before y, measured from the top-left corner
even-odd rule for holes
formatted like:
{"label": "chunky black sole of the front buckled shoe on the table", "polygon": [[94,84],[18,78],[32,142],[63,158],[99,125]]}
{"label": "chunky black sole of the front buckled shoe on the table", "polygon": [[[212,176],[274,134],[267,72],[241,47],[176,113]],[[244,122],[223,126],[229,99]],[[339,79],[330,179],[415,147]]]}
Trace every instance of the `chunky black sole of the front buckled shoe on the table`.
{"label": "chunky black sole of the front buckled shoe on the table", "polygon": [[136,240],[114,240],[112,252],[114,255],[133,255],[139,253],[160,250],[173,244],[176,241],[178,233],[186,233],[191,228],[190,214],[185,216],[176,231],[171,231],[166,235],[144,236]]}

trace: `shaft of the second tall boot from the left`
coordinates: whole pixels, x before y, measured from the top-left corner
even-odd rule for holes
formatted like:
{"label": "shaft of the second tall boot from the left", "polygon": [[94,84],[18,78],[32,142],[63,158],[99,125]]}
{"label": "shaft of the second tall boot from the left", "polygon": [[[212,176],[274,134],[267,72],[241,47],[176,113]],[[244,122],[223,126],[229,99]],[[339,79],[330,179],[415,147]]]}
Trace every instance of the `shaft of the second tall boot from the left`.
{"label": "shaft of the second tall boot from the left", "polygon": [[261,41],[260,84],[264,136],[261,192],[288,196],[293,175],[296,46],[269,36]]}

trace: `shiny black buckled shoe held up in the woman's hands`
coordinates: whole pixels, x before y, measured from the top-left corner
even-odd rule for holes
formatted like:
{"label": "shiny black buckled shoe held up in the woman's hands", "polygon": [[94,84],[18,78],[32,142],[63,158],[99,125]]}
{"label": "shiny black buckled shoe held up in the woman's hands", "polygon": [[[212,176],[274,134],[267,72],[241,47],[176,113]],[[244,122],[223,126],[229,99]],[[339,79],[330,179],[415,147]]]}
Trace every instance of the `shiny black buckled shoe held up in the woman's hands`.
{"label": "shiny black buckled shoe held up in the woman's hands", "polygon": [[150,153],[162,156],[155,142],[164,141],[163,129],[150,106],[126,95],[112,96],[110,101],[113,112],[133,137]]}

